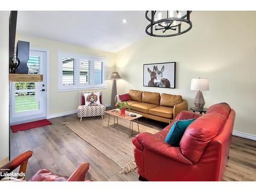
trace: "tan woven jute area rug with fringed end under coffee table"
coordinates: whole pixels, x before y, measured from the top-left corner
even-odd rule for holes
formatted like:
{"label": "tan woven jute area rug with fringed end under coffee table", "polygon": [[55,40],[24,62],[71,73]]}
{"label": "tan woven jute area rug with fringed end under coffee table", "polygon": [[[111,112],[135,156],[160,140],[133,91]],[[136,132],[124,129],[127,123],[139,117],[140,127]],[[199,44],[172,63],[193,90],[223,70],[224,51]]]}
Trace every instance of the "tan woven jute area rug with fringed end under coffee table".
{"label": "tan woven jute area rug with fringed end under coffee table", "polygon": [[[140,119],[139,119],[140,122]],[[129,173],[137,168],[134,159],[134,145],[132,143],[130,121],[118,118],[118,125],[115,127],[114,118],[110,118],[108,128],[108,115],[104,119],[101,117],[87,117],[82,121],[75,120],[65,122],[71,131],[76,133],[81,139],[90,143],[99,152],[113,160],[122,170],[120,173]],[[133,122],[134,133],[138,134],[137,121]],[[158,130],[139,123],[140,133],[157,133]],[[136,135],[134,135],[136,136]]]}

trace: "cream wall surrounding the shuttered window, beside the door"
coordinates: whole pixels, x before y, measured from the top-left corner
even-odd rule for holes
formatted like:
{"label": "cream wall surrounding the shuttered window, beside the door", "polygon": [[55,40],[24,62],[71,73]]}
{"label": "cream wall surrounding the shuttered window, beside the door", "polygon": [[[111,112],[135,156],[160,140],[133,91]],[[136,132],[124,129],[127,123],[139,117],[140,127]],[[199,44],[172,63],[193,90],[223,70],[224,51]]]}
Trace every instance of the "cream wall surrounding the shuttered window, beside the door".
{"label": "cream wall surrounding the shuttered window, beside the door", "polygon": [[[81,47],[65,42],[54,41],[44,38],[17,34],[16,40],[25,40],[30,42],[30,47],[50,50],[50,113],[55,115],[59,113],[71,112],[77,110],[78,91],[58,92],[58,51],[80,53],[94,56],[106,57],[106,77],[115,69],[115,54]],[[112,81],[106,81],[106,89],[103,89],[103,103],[109,104],[111,100]]]}

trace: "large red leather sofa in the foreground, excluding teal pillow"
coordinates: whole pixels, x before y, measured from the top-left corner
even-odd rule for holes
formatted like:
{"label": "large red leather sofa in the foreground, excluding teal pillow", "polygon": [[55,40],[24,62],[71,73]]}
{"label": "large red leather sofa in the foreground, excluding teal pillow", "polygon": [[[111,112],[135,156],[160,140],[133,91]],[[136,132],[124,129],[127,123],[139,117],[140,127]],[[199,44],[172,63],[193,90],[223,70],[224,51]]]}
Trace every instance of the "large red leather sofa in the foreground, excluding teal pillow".
{"label": "large red leather sofa in the foreground, excluding teal pillow", "polygon": [[[235,112],[227,103],[210,106],[206,114],[182,111],[162,131],[133,138],[140,179],[148,181],[221,181],[226,167]],[[196,118],[179,147],[164,142],[178,119]]]}

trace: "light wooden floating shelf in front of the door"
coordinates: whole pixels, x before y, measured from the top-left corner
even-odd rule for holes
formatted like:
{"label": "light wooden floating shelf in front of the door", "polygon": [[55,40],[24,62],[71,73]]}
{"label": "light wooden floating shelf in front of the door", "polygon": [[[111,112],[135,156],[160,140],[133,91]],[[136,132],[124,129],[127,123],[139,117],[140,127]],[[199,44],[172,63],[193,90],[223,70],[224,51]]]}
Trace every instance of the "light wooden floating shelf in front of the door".
{"label": "light wooden floating shelf in front of the door", "polygon": [[9,74],[10,82],[42,82],[42,75],[40,74]]}

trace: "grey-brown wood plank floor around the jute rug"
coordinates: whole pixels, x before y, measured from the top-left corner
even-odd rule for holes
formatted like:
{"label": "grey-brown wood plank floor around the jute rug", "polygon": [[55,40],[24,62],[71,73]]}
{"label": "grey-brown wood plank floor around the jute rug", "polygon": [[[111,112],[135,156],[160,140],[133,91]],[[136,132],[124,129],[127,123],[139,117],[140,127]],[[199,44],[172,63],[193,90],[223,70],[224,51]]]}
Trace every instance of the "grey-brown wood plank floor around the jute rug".
{"label": "grey-brown wood plank floor around the jute rug", "polygon": [[[47,168],[56,174],[70,176],[81,162],[86,161],[90,163],[86,179],[94,181],[138,181],[137,172],[120,174],[120,168],[116,163],[82,140],[66,126],[61,125],[63,122],[76,119],[77,115],[73,114],[50,119],[52,125],[17,133],[10,131],[11,159],[26,150],[33,151],[33,156],[27,167],[27,180],[41,168]],[[163,128],[167,125],[146,118],[141,118],[139,122],[154,129]],[[256,181],[256,141],[232,137],[229,160],[223,180]]]}

